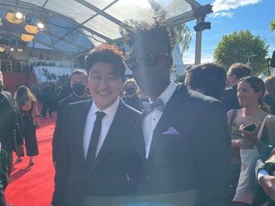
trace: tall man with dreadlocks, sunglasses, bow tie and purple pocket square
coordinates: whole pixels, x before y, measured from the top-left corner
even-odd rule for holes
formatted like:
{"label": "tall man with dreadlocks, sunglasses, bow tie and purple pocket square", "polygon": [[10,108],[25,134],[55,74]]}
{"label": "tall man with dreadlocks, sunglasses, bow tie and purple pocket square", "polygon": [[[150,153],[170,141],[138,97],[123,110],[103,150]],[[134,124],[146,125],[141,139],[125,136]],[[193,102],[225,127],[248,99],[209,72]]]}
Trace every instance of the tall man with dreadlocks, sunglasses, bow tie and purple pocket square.
{"label": "tall man with dreadlocks, sunglasses, bow tie and purple pocket square", "polygon": [[[126,64],[151,101],[144,104],[132,132],[144,162],[140,194],[198,191],[194,205],[228,205],[230,134],[225,106],[170,80],[173,44],[165,23],[155,19],[151,26],[126,30],[131,49]],[[182,201],[173,198],[173,205]]]}

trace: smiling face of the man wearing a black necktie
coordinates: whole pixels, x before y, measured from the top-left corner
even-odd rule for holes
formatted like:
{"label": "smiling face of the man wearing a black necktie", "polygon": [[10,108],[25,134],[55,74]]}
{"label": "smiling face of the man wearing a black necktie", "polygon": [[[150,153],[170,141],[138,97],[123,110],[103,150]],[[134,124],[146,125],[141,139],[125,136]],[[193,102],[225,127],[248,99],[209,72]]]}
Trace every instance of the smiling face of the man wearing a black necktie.
{"label": "smiling face of the man wearing a black necktie", "polygon": [[118,99],[122,87],[122,77],[110,63],[96,62],[91,67],[88,88],[100,110],[108,108]]}

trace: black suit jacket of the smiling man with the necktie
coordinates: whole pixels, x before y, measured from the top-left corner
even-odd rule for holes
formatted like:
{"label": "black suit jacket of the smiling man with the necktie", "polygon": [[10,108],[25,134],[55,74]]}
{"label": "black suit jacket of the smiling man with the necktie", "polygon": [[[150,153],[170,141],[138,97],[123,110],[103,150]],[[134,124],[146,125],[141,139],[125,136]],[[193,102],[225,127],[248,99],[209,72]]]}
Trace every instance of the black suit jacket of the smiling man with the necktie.
{"label": "black suit jacket of the smiling man with the necktie", "polygon": [[140,170],[137,164],[141,160],[131,130],[140,113],[120,100],[96,161],[93,167],[86,168],[83,133],[91,103],[92,100],[87,100],[67,106],[61,128],[61,156],[54,179],[54,205],[63,205],[64,200],[65,205],[81,205],[83,196],[123,196],[135,189]]}

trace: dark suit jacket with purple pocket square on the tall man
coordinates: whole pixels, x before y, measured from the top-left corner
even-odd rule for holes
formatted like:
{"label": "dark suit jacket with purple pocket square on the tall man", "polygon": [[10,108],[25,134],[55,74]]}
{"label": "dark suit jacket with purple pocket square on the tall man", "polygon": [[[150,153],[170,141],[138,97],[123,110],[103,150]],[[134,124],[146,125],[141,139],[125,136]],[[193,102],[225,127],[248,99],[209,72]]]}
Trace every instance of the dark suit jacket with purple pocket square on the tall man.
{"label": "dark suit jacket with purple pocket square on the tall man", "polygon": [[[155,127],[148,159],[141,127],[145,115],[132,133],[144,163],[140,194],[198,190],[196,205],[226,205],[231,141],[224,105],[178,85]],[[178,134],[162,134],[170,127]]]}

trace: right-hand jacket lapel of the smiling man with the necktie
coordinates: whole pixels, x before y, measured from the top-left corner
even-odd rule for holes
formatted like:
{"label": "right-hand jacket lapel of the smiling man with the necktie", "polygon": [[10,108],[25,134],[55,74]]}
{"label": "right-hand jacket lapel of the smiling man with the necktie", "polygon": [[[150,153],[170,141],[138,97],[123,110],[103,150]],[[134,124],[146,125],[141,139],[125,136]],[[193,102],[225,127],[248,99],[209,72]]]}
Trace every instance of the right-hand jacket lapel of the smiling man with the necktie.
{"label": "right-hand jacket lapel of the smiling man with the necktie", "polygon": [[[113,118],[113,122],[111,123],[111,126],[100,148],[100,151],[98,152],[98,155],[94,160],[94,163],[91,165],[91,168],[87,168],[88,175],[94,172],[94,170],[96,169],[100,161],[102,161],[104,155],[109,150],[110,146],[113,145],[112,142],[115,140],[115,137],[117,135],[120,135],[120,133],[122,133],[122,131],[118,131],[118,128],[122,128],[122,125],[124,125],[123,122],[125,121],[125,119],[124,119],[124,115],[122,115],[122,113],[124,113],[124,109],[125,109],[124,103],[122,102],[122,100],[120,100],[120,104],[118,105],[118,110],[115,113],[115,117]],[[104,127],[104,125],[102,125],[102,127]]]}

